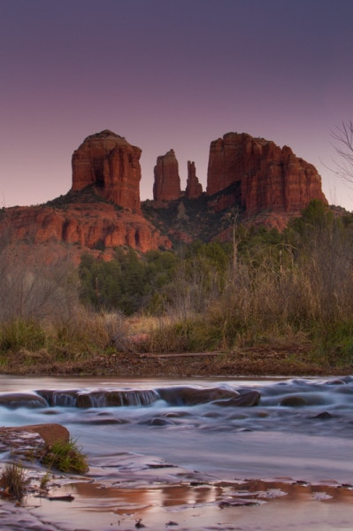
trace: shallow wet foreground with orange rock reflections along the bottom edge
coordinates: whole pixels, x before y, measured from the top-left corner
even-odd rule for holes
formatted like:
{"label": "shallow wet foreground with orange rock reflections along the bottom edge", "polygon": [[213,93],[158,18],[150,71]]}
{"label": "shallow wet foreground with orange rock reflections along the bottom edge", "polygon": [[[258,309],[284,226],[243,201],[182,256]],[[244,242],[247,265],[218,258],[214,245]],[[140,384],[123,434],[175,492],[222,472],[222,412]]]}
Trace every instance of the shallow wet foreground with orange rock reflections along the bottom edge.
{"label": "shallow wet foreground with orange rock reflections along the bottom edge", "polygon": [[[35,478],[35,472],[32,473]],[[161,481],[162,480],[162,481]],[[37,481],[37,480],[35,480]],[[266,478],[234,481],[95,481],[56,477],[46,496],[36,489],[15,505],[2,500],[2,521],[46,531],[273,531],[348,529],[353,488],[335,481]],[[39,526],[39,527],[38,527]]]}

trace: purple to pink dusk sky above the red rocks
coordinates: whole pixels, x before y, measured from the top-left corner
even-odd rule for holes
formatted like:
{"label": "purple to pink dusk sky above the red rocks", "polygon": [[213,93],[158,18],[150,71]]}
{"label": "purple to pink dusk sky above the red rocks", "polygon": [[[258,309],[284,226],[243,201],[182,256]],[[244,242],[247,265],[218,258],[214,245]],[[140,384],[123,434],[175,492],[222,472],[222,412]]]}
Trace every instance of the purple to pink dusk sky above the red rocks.
{"label": "purple to pink dusk sky above the red rocks", "polygon": [[353,119],[351,0],[0,0],[0,206],[71,188],[81,142],[111,129],[142,149],[142,200],[173,149],[207,183],[234,131],[315,165],[330,204],[332,132]]}

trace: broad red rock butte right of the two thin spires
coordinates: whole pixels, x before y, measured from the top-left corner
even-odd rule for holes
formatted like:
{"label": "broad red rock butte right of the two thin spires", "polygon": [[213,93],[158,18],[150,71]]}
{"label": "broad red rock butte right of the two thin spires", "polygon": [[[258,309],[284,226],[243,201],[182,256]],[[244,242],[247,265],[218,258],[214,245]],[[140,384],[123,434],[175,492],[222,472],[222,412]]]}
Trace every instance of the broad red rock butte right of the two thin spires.
{"label": "broad red rock butte right of the two thin spires", "polygon": [[241,185],[241,203],[247,214],[298,212],[312,199],[326,203],[313,165],[295,157],[287,146],[281,149],[274,142],[245,133],[227,133],[211,142],[207,195],[236,182]]}

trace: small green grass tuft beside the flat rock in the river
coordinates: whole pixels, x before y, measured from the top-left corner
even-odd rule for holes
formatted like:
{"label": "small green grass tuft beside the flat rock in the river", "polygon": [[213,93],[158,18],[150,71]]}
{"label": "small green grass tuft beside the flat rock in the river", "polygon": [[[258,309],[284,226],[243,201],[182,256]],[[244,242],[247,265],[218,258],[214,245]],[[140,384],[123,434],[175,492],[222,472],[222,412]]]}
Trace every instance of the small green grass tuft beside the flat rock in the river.
{"label": "small green grass tuft beside the flat rock in the river", "polygon": [[52,444],[42,458],[42,464],[50,470],[55,468],[64,473],[87,473],[88,463],[86,456],[76,440],[57,441]]}

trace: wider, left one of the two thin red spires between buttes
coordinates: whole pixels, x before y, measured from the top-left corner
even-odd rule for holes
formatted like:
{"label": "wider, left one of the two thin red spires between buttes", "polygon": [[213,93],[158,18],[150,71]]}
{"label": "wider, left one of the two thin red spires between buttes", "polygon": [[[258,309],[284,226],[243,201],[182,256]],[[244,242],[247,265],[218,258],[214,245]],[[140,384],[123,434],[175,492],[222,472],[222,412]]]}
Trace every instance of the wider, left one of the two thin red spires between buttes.
{"label": "wider, left one of the two thin red spires between buttes", "polygon": [[153,185],[153,199],[155,201],[173,201],[179,199],[180,176],[178,160],[173,150],[157,157],[155,166],[155,181]]}

